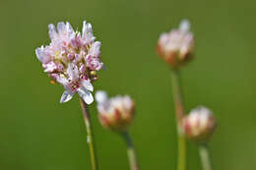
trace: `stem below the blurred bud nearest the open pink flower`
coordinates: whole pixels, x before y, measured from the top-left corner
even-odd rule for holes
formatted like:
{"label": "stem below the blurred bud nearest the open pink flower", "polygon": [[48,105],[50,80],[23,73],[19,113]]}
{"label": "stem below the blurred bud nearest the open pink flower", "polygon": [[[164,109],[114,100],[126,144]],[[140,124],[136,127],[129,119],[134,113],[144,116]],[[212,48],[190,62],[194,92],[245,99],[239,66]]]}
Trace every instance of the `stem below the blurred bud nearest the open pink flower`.
{"label": "stem below the blurred bud nearest the open pink flower", "polygon": [[123,137],[124,141],[127,144],[127,153],[128,153],[128,159],[129,159],[131,170],[139,170],[139,163],[138,163],[135,148],[132,142],[132,138],[130,137],[128,132],[124,132],[120,135]]}

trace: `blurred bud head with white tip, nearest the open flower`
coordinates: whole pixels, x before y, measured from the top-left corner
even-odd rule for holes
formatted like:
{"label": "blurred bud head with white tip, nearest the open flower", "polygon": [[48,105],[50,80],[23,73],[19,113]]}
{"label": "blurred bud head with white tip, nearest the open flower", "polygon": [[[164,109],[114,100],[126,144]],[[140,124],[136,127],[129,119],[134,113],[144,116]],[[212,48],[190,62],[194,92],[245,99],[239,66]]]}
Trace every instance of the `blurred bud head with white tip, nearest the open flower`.
{"label": "blurred bud head with white tip, nearest the open flower", "polygon": [[108,98],[104,91],[96,91],[100,124],[116,132],[124,132],[135,114],[135,103],[128,95]]}

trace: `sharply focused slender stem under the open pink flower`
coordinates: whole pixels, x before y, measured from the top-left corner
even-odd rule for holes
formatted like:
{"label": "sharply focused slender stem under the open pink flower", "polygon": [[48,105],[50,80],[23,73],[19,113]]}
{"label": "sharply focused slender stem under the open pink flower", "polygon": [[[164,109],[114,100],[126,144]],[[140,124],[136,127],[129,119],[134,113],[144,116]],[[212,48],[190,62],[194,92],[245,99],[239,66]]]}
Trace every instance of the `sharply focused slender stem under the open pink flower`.
{"label": "sharply focused slender stem under the open pink flower", "polygon": [[96,160],[96,149],[94,144],[93,127],[91,125],[90,111],[89,111],[88,105],[84,102],[84,100],[82,98],[79,98],[79,99],[80,99],[80,105],[83,111],[85,124],[87,127],[87,141],[90,148],[92,169],[97,170],[98,166],[97,166],[97,160]]}

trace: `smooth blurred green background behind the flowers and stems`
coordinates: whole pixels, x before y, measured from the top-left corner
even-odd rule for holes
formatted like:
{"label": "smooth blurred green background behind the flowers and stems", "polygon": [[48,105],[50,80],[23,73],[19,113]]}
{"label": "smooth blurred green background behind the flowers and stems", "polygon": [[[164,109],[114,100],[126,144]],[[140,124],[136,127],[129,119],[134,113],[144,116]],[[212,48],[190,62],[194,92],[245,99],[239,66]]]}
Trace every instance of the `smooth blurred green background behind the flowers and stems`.
{"label": "smooth blurred green background behind the flowers and stems", "polygon": [[[256,2],[253,0],[16,0],[0,2],[0,169],[91,169],[78,97],[59,104],[34,49],[49,42],[47,25],[93,24],[107,70],[96,89],[130,94],[131,128],[142,170],[176,169],[176,133],[169,69],[155,48],[162,31],[191,21],[196,58],[182,69],[186,111],[204,104],[218,131],[210,144],[218,170],[256,167]],[[100,127],[91,106],[100,169],[128,170],[126,147]],[[188,143],[188,170],[200,170]]]}

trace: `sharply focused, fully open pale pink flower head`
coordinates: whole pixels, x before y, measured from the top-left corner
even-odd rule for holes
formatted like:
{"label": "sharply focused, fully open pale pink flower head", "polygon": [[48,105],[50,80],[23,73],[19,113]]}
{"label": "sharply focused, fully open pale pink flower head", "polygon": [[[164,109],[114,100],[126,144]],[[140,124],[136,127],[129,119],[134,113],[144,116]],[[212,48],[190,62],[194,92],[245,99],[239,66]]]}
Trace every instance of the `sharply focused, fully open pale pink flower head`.
{"label": "sharply focused, fully open pale pink flower head", "polygon": [[50,24],[50,44],[35,49],[44,72],[55,82],[64,86],[60,102],[69,101],[77,92],[87,104],[94,101],[91,91],[96,81],[96,71],[103,67],[99,41],[95,41],[91,24],[84,22],[83,31],[75,32],[67,22]]}

